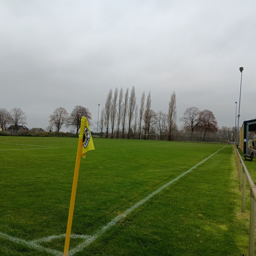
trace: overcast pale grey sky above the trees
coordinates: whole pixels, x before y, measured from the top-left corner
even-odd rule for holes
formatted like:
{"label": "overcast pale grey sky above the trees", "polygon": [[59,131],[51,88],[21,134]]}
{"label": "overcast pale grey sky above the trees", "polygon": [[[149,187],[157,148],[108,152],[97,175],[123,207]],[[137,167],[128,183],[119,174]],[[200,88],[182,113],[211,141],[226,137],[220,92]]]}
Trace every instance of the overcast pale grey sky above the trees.
{"label": "overcast pale grey sky above the trees", "polygon": [[138,107],[151,91],[167,113],[175,91],[178,119],[195,106],[235,126],[239,67],[240,123],[256,117],[255,13],[255,0],[0,0],[0,108],[46,128],[82,105],[93,130],[108,91],[134,86]]}

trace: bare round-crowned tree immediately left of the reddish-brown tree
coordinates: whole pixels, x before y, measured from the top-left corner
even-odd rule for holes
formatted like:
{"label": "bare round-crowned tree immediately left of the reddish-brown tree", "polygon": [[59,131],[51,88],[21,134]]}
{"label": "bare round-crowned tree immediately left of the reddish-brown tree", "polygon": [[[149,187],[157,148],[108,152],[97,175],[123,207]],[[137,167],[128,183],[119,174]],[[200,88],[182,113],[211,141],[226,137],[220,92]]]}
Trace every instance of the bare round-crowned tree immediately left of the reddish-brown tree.
{"label": "bare round-crowned tree immediately left of the reddish-brown tree", "polygon": [[183,113],[183,117],[180,118],[180,121],[183,122],[183,127],[185,129],[190,128],[191,130],[191,140],[193,140],[193,131],[199,124],[199,115],[200,110],[196,107],[186,108]]}

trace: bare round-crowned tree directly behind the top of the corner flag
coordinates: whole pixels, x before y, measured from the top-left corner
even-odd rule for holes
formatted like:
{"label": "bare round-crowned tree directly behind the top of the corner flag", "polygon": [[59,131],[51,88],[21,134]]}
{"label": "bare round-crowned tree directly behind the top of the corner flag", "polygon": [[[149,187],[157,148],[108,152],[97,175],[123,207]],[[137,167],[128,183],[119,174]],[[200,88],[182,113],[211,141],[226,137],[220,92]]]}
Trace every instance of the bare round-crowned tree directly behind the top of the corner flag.
{"label": "bare round-crowned tree directly behind the top of the corner flag", "polygon": [[71,114],[69,115],[67,119],[67,124],[66,126],[73,126],[76,128],[76,135],[78,134],[78,131],[80,129],[81,125],[81,116],[84,116],[87,118],[89,125],[91,125],[91,119],[92,119],[92,114],[90,113],[88,108],[85,108],[81,105],[77,105]]}

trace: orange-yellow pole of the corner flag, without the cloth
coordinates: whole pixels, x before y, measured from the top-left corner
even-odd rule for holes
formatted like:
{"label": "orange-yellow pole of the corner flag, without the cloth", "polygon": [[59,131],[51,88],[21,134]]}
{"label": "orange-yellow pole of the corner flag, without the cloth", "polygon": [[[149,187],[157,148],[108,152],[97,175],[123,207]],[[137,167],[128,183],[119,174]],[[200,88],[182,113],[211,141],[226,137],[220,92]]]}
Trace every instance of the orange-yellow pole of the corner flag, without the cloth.
{"label": "orange-yellow pole of the corner flag, without the cloth", "polygon": [[64,256],[68,256],[68,249],[70,244],[70,234],[71,234],[73,213],[74,213],[74,207],[75,207],[76,188],[77,188],[77,181],[78,181],[78,174],[79,174],[79,167],[80,167],[80,160],[81,160],[81,153],[82,153],[82,143],[83,143],[83,137],[80,137],[80,134],[79,134],[78,147],[77,147],[77,153],[76,153],[76,166],[75,166],[75,173],[74,173],[73,186],[72,186],[71,199],[70,199],[70,209],[69,209],[68,220],[67,220],[67,233],[66,233],[66,239],[65,239]]}

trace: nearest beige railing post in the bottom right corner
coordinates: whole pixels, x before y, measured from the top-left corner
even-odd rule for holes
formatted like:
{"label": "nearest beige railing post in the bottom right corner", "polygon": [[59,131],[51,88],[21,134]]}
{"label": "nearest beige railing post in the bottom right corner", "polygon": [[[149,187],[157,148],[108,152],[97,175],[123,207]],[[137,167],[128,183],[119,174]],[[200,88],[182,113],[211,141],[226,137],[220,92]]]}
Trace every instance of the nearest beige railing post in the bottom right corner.
{"label": "nearest beige railing post in the bottom right corner", "polygon": [[249,227],[249,253],[248,256],[254,256],[254,244],[255,244],[255,214],[256,203],[253,198],[252,191],[250,192],[250,227]]}

